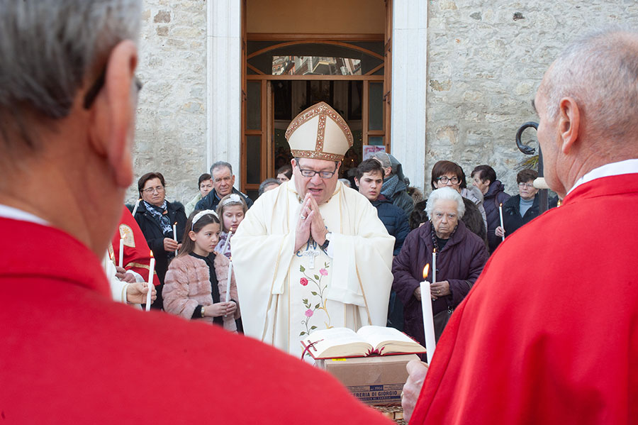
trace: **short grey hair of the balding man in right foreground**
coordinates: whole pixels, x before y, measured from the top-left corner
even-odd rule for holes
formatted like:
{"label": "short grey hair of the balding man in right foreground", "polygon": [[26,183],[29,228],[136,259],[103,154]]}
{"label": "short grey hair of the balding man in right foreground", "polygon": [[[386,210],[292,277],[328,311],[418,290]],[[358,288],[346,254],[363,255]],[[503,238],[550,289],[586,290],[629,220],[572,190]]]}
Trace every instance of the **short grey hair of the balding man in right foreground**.
{"label": "short grey hair of the balding man in right foreground", "polygon": [[638,125],[638,33],[612,27],[569,45],[547,71],[547,113],[570,96],[593,131],[608,137],[634,133]]}

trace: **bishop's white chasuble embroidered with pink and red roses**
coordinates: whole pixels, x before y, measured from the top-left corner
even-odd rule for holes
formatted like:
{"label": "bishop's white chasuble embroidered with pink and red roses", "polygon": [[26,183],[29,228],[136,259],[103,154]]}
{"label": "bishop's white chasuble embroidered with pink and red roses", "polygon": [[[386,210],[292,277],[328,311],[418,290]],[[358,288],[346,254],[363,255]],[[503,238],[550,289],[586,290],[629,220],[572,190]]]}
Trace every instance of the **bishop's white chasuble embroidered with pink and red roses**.
{"label": "bishop's white chasuble embroidered with pink and red roses", "polygon": [[332,258],[312,240],[294,252],[300,210],[291,180],[259,197],[233,236],[245,334],[297,357],[313,331],[386,325],[394,246],[368,199],[338,182],[319,206]]}

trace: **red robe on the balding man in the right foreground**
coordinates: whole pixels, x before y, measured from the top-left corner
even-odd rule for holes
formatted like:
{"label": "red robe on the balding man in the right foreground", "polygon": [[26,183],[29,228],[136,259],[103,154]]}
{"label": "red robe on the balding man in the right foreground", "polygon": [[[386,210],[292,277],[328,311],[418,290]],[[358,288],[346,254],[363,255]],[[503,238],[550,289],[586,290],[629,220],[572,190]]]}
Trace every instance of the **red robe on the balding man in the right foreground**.
{"label": "red robe on the balding man in the right foreground", "polygon": [[582,184],[501,243],[410,424],[638,424],[638,174]]}

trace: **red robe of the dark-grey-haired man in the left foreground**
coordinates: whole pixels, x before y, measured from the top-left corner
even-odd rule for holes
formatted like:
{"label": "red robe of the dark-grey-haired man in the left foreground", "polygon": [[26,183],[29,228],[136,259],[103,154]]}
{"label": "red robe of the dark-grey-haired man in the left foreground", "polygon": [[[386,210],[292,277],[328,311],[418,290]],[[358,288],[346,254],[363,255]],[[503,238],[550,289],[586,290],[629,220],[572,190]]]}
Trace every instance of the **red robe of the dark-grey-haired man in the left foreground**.
{"label": "red robe of the dark-grey-haired man in the left foreground", "polygon": [[2,424],[390,424],[276,348],[111,301],[67,233],[3,218],[0,234]]}

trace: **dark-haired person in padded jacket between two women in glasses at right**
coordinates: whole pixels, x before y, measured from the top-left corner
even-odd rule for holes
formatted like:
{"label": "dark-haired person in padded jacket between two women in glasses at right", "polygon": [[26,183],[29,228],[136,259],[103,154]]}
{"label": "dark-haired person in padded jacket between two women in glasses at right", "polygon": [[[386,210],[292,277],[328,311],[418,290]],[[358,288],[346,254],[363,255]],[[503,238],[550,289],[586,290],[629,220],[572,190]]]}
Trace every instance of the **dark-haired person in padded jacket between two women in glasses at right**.
{"label": "dark-haired person in padded jacket between two women in glasses at right", "polygon": [[505,186],[500,180],[496,180],[496,171],[489,165],[478,165],[472,170],[472,184],[478,187],[483,194],[483,208],[487,219],[487,235],[490,253],[493,253],[498,244],[503,241],[496,236],[494,231],[500,226],[500,214],[498,206],[505,204],[511,195],[505,193]]}

